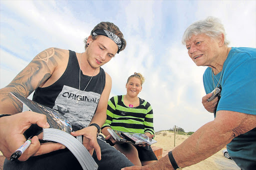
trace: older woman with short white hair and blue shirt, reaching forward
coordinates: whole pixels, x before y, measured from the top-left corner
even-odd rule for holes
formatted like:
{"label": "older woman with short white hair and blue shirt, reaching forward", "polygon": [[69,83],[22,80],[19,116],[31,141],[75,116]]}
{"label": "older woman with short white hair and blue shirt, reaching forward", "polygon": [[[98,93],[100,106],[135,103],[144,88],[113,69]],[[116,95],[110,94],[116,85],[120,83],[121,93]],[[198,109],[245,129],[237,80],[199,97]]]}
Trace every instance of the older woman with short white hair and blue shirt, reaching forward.
{"label": "older woman with short white hair and blue shirt, reaching forward", "polygon": [[[215,119],[156,163],[124,170],[177,170],[226,145],[241,170],[256,170],[256,49],[228,47],[223,25],[215,17],[192,23],[182,42],[197,66],[207,66],[203,74],[207,95],[202,104]],[[207,101],[216,87],[221,87],[221,97]]]}

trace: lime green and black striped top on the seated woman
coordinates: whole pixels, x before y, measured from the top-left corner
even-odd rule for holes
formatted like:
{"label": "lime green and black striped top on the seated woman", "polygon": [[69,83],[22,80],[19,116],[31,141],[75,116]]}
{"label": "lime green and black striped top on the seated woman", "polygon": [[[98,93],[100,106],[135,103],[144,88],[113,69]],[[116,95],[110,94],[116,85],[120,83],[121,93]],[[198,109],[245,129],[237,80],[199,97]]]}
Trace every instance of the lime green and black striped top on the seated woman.
{"label": "lime green and black striped top on the seated woman", "polygon": [[113,130],[154,135],[153,110],[150,104],[139,98],[139,106],[127,107],[123,103],[123,96],[114,96],[108,100],[106,122],[102,126]]}

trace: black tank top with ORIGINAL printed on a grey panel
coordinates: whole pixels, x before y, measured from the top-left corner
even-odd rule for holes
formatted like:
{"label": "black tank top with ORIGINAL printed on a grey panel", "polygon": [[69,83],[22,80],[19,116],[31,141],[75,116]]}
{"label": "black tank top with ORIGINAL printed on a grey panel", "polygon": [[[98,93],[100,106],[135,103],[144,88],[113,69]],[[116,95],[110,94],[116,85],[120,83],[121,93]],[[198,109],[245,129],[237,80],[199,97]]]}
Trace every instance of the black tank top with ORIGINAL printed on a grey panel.
{"label": "black tank top with ORIGINAL printed on a grey panel", "polygon": [[89,84],[91,76],[81,72],[79,92],[79,71],[76,54],[69,50],[67,67],[62,76],[48,87],[35,89],[32,100],[58,110],[73,126],[84,128],[90,123],[105,87],[105,72],[100,67]]}

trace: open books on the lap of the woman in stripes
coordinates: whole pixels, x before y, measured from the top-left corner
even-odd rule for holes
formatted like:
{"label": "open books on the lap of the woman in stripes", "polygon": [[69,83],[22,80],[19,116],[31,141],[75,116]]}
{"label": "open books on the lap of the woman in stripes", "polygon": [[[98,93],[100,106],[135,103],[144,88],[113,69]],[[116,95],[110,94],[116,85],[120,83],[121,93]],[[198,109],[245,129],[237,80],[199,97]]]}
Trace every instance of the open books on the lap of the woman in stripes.
{"label": "open books on the lap of the woman in stripes", "polygon": [[128,132],[122,132],[122,131],[117,131],[113,129],[107,129],[107,131],[113,137],[113,139],[118,142],[132,143],[134,145],[138,145],[138,144],[152,145],[157,142],[151,138],[148,138],[144,134],[128,133]]}

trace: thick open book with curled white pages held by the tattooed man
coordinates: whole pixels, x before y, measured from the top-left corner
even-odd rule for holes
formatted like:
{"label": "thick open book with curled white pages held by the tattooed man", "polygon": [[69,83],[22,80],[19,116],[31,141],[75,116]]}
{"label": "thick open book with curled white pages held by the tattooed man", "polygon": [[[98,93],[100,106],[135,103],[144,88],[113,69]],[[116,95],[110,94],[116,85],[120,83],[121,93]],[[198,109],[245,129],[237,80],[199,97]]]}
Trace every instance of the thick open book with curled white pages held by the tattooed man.
{"label": "thick open book with curled white pages held by the tattooed man", "polygon": [[31,101],[17,93],[10,92],[28,110],[46,115],[50,128],[40,128],[36,124],[31,126],[24,133],[26,136],[38,135],[43,132],[42,140],[53,141],[64,145],[75,156],[83,170],[97,170],[98,165],[91,157],[86,148],[75,137],[70,135],[72,125],[58,111]]}

